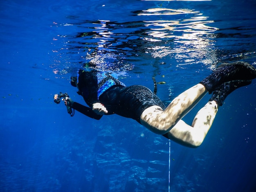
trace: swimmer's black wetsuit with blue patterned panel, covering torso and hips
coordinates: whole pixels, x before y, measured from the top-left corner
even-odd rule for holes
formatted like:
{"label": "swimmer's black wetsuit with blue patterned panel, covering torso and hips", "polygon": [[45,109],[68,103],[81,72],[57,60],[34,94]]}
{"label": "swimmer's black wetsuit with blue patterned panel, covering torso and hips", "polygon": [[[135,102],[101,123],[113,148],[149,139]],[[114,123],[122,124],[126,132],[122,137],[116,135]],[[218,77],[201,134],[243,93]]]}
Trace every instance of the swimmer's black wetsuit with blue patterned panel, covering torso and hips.
{"label": "swimmer's black wetsuit with blue patterned panel, covering torso and hips", "polygon": [[[153,105],[165,109],[164,103],[150,89],[141,85],[126,87],[109,74],[98,71],[79,71],[77,87],[85,102],[92,107],[93,103],[102,103],[108,110],[107,115],[135,119],[140,123],[142,112]],[[101,116],[95,114],[91,108],[74,102],[72,108],[94,119]]]}

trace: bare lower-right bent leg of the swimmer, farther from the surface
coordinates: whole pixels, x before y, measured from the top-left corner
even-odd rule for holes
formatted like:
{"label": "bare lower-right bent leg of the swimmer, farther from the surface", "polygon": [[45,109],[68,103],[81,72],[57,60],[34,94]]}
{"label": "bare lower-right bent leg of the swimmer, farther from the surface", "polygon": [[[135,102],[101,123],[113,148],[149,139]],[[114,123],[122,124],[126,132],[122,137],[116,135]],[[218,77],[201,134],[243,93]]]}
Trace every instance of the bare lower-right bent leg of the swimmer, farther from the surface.
{"label": "bare lower-right bent leg of the swimmer, farther from the surface", "polygon": [[196,114],[192,127],[180,120],[168,132],[168,137],[182,145],[198,147],[204,141],[217,112],[218,104],[216,101],[209,101]]}

